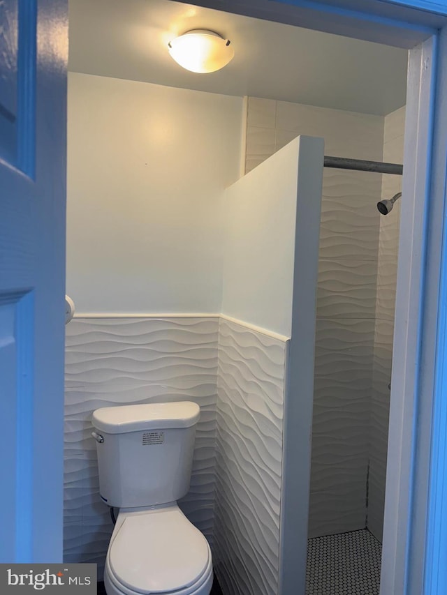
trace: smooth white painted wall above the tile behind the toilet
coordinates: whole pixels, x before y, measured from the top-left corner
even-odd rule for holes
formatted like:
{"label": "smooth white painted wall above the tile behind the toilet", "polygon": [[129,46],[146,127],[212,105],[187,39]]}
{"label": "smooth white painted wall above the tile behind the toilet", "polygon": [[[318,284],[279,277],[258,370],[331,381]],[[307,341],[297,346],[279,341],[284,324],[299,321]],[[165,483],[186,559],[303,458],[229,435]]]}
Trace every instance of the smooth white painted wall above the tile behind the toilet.
{"label": "smooth white painted wall above the tile behind the toilet", "polygon": [[70,73],[67,292],[77,312],[219,312],[242,98]]}

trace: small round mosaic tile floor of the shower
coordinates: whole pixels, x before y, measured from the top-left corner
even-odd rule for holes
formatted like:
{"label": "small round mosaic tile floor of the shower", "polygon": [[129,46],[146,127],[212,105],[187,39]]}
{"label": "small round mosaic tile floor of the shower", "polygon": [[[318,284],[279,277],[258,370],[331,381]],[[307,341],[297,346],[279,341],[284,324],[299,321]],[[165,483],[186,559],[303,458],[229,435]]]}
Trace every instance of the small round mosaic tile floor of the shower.
{"label": "small round mosaic tile floor of the shower", "polygon": [[379,595],[381,550],[367,529],[309,539],[306,595]]}

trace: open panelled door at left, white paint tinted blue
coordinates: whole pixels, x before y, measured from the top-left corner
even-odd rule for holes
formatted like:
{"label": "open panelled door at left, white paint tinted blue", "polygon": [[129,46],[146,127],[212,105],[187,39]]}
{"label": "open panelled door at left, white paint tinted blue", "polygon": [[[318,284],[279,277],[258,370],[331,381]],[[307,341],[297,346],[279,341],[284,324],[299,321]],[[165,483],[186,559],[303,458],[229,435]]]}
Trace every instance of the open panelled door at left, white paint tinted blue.
{"label": "open panelled door at left, white paint tinted blue", "polygon": [[66,1],[0,0],[0,562],[61,562]]}

